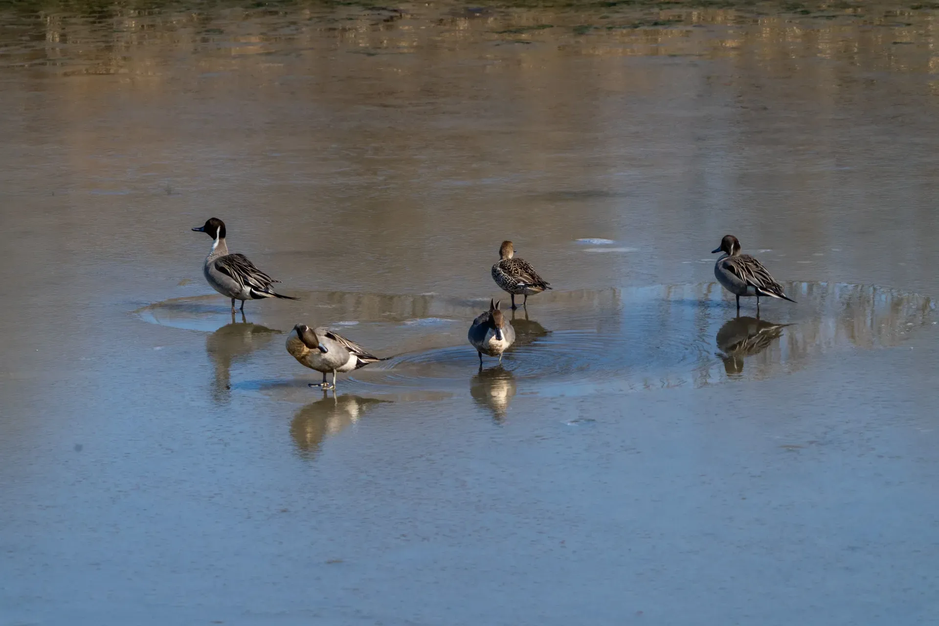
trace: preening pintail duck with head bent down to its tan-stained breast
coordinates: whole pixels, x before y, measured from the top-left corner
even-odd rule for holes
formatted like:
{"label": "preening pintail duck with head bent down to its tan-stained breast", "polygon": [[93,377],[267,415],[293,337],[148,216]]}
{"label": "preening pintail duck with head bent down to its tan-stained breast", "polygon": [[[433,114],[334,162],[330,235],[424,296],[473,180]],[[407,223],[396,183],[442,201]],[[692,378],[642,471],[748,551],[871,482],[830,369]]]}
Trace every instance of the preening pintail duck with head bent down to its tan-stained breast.
{"label": "preening pintail duck with head bent down to its tan-stained breast", "polygon": [[[350,342],[329,328],[310,328],[298,324],[287,336],[287,352],[311,370],[323,373],[321,384],[310,383],[310,387],[336,389],[336,373],[351,372],[379,360],[361,345]],[[332,384],[326,382],[326,373],[332,373]]]}

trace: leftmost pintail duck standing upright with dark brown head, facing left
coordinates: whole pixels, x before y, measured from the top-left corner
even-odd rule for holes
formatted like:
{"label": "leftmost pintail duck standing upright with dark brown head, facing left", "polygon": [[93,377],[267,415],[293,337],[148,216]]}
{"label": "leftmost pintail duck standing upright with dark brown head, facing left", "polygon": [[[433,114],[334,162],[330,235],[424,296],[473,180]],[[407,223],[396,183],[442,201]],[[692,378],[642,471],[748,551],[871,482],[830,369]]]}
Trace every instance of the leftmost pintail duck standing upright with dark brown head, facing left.
{"label": "leftmost pintail duck standing upright with dark brown head, facing left", "polygon": [[208,252],[202,272],[212,289],[232,298],[232,313],[235,313],[235,300],[241,300],[241,311],[244,311],[244,301],[248,299],[300,299],[275,293],[271,284],[280,281],[275,281],[254,267],[254,263],[244,254],[228,253],[228,246],[225,245],[225,223],[222,220],[209,218],[204,225],[192,230],[206,233],[213,239],[212,250]]}

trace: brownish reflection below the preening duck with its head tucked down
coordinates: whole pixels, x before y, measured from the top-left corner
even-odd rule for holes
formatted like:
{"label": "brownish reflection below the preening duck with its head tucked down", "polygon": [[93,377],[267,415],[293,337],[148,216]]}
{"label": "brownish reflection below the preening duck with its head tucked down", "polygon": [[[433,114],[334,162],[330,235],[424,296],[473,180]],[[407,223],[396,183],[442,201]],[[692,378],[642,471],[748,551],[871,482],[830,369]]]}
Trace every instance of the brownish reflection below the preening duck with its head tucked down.
{"label": "brownish reflection below the preening duck with its head tucked down", "polygon": [[353,395],[336,397],[323,391],[323,399],[304,406],[290,422],[290,436],[301,456],[314,458],[327,436],[336,435],[377,405],[391,400]]}

